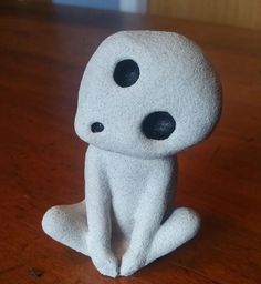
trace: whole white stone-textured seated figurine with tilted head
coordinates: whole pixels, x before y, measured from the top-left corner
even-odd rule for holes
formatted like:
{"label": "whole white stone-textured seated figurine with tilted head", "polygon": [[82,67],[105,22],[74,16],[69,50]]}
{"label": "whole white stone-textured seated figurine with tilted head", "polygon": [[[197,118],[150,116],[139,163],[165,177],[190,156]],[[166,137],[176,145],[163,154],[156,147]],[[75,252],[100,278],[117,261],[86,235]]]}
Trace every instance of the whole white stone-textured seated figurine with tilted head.
{"label": "whole white stone-textured seated figurine with tilted head", "polygon": [[77,135],[90,144],[86,199],[51,207],[45,233],[112,277],[194,237],[198,215],[173,206],[173,155],[211,133],[220,105],[219,80],[190,40],[158,31],[108,37],[86,67],[75,118]]}

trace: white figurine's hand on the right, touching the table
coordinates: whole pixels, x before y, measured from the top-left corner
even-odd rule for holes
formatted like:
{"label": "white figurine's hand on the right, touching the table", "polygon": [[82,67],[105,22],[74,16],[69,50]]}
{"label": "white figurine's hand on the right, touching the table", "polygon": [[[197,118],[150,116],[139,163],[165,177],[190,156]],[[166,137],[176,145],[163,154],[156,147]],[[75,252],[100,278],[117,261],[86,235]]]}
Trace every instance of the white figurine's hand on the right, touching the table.
{"label": "white figurine's hand on the right, touching the table", "polygon": [[136,271],[145,266],[146,264],[146,254],[142,251],[134,252],[128,250],[122,258],[121,272],[122,276],[128,276],[134,274]]}

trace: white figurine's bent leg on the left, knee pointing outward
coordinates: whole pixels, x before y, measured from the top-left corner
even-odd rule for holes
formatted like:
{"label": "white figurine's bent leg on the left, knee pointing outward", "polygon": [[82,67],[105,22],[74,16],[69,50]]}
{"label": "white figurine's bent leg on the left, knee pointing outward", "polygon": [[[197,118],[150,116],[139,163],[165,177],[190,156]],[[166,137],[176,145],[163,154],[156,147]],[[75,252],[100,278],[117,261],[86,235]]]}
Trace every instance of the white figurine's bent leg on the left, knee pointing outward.
{"label": "white figurine's bent leg on the left, knee pointing outward", "polygon": [[43,216],[42,227],[48,235],[58,242],[88,255],[85,201],[51,207]]}

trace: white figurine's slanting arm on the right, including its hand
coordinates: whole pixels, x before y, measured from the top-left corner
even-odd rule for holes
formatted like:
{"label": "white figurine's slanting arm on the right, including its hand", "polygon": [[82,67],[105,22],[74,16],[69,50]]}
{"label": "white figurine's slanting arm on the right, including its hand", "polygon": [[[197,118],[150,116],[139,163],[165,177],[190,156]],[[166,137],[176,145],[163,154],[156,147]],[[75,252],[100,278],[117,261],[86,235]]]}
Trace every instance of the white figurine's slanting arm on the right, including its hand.
{"label": "white figurine's slanting arm on the right, including its hand", "polygon": [[173,164],[161,165],[152,171],[146,190],[138,203],[130,243],[122,258],[121,275],[130,275],[145,265],[153,237],[166,212]]}

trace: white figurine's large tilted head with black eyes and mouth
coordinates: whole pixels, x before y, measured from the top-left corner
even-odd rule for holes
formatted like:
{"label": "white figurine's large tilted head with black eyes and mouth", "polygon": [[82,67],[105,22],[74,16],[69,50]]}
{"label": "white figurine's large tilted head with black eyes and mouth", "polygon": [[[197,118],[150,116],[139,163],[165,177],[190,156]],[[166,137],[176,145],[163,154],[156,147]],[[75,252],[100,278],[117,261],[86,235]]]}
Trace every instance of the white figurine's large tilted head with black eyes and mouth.
{"label": "white figurine's large tilted head with black eyes and mouth", "polygon": [[97,148],[143,159],[168,156],[203,140],[220,113],[211,64],[174,32],[122,31],[90,60],[75,130]]}

